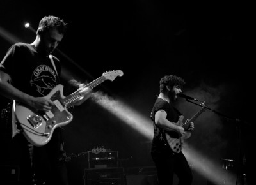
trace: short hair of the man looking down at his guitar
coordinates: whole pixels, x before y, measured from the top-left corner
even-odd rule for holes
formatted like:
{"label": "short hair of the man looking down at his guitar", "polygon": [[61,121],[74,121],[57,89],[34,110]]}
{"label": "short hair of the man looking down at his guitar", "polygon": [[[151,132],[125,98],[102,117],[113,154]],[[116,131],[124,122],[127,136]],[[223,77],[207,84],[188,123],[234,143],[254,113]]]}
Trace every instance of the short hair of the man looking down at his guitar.
{"label": "short hair of the man looking down at his guitar", "polygon": [[42,32],[51,29],[52,27],[56,27],[60,34],[65,34],[67,30],[67,23],[64,20],[61,20],[58,17],[53,15],[45,16],[40,20],[38,28],[42,29]]}

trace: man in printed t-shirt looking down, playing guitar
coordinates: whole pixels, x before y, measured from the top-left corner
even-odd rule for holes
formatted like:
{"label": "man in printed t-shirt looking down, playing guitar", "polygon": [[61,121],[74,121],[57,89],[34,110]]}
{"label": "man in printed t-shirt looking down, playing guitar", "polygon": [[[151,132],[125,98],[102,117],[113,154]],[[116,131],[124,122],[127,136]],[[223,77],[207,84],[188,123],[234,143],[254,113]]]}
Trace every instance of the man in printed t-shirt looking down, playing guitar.
{"label": "man in printed t-shirt looking down, playing guitar", "polygon": [[[37,112],[54,111],[50,110],[56,101],[53,102],[45,96],[56,85],[61,84],[62,78],[60,61],[51,54],[61,42],[66,28],[67,24],[60,18],[45,16],[39,23],[33,43],[15,43],[9,48],[0,63],[2,96],[15,100],[17,106],[26,105]],[[84,84],[79,84],[75,80],[71,85],[74,85],[81,94],[80,98],[73,102],[74,105],[80,105],[89,98],[90,88],[82,88]],[[51,118],[51,115],[49,117]],[[19,126],[24,124],[17,122],[15,118],[17,117],[13,116],[13,123],[18,129],[16,135],[13,133],[13,139],[17,140],[17,147],[20,149],[17,153],[17,158],[20,158],[20,184],[67,185],[65,166],[58,165],[58,158],[63,152],[61,128],[54,130],[51,140],[46,145],[38,147],[19,133]],[[36,117],[30,120],[33,121],[36,121]],[[31,129],[27,129],[29,130]]]}

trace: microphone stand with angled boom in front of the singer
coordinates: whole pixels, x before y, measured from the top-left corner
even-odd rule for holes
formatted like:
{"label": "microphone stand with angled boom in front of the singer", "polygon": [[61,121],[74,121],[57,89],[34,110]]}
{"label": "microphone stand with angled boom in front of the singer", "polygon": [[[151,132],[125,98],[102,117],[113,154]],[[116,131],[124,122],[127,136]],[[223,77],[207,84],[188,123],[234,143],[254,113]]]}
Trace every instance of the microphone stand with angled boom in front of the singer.
{"label": "microphone stand with angled boom in front of the singer", "polygon": [[[236,129],[237,129],[237,143],[238,143],[238,147],[239,147],[239,153],[238,153],[238,170],[237,170],[237,178],[236,178],[236,184],[239,184],[239,177],[241,179],[241,185],[244,185],[244,177],[243,177],[243,153],[241,150],[241,120],[237,119],[237,118],[231,118],[231,117],[227,117],[227,115],[221,114],[220,112],[213,110],[212,108],[209,107],[205,107],[205,105],[202,105],[204,101],[200,101],[200,100],[193,100],[193,101],[200,101],[201,104],[195,103],[191,100],[189,100],[188,98],[185,98],[186,101],[188,101],[189,103],[193,103],[195,105],[198,105],[200,107],[204,107],[208,110],[211,110],[211,112],[214,112],[217,115],[220,115],[221,117],[224,117],[225,119],[229,119],[230,121],[234,121],[236,122]],[[243,121],[244,122],[244,121]],[[248,124],[247,122],[244,122],[245,124]],[[248,124],[250,126],[250,124]]]}

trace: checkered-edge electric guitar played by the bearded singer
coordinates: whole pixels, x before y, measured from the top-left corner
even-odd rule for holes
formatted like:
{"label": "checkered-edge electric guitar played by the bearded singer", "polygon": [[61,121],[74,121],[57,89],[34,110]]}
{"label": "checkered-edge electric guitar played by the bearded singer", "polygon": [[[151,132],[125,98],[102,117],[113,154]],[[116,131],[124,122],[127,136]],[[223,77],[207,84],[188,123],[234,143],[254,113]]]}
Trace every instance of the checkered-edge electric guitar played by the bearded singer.
{"label": "checkered-edge electric guitar played by the bearded singer", "polygon": [[204,102],[201,103],[202,108],[195,114],[191,119],[187,119],[187,121],[183,124],[184,116],[180,115],[179,121],[175,124],[182,126],[185,130],[185,134],[182,137],[179,137],[178,133],[173,131],[164,131],[164,136],[166,138],[166,142],[171,147],[172,151],[175,153],[179,153],[182,150],[182,144],[184,143],[184,139],[188,139],[191,136],[191,133],[188,132],[189,124],[202,114],[205,111]]}

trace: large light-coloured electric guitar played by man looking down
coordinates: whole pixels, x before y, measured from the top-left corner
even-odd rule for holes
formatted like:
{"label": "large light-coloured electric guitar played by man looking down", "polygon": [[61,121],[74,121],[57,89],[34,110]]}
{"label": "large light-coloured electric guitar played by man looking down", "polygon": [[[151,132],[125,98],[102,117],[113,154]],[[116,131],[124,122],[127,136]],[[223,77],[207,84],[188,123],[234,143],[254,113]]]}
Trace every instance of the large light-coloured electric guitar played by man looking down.
{"label": "large light-coloured electric guitar played by man looking down", "polygon": [[[108,71],[90,84],[84,85],[83,88],[89,87],[93,89],[105,80],[115,80],[116,77],[122,76],[124,73],[121,70]],[[63,85],[56,85],[51,92],[45,96],[53,101],[54,106],[48,112],[37,111],[27,105],[17,105],[15,108],[15,116],[20,123],[24,136],[36,146],[45,145],[51,140],[54,129],[65,126],[72,121],[73,115],[68,112],[67,107],[71,103],[79,100],[83,88],[74,93],[63,96]]]}

